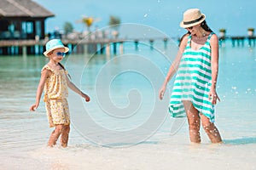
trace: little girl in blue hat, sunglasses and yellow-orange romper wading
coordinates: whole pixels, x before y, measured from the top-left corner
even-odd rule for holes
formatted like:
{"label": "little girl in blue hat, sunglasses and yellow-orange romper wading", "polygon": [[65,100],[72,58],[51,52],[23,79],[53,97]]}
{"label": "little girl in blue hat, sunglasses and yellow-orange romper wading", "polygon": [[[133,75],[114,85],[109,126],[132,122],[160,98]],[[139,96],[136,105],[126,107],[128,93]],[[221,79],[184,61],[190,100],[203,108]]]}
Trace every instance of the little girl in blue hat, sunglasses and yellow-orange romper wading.
{"label": "little girl in blue hat, sunglasses and yellow-orange romper wading", "polygon": [[48,145],[50,147],[56,144],[60,135],[61,146],[67,147],[68,134],[70,131],[67,87],[71,88],[75,93],[80,94],[86,102],[90,101],[90,97],[84,94],[70,81],[69,77],[67,77],[67,71],[60,63],[68,50],[69,48],[65,47],[60,39],[53,39],[46,43],[44,55],[49,58],[49,63],[44,65],[41,71],[36,103],[30,107],[30,111],[35,111],[38,108],[44,90],[44,102],[49,127],[55,127],[55,130],[49,137]]}

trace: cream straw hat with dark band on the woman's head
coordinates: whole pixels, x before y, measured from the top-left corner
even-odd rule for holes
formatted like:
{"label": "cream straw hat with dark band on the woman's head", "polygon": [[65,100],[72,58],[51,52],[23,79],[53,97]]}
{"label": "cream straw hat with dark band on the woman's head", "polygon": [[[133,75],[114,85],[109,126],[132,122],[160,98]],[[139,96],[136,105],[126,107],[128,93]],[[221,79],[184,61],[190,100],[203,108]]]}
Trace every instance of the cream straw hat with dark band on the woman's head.
{"label": "cream straw hat with dark band on the woman's head", "polygon": [[198,8],[189,8],[184,12],[183,21],[179,26],[188,28],[190,26],[196,26],[204,20],[206,20],[206,15],[201,14],[201,11]]}

